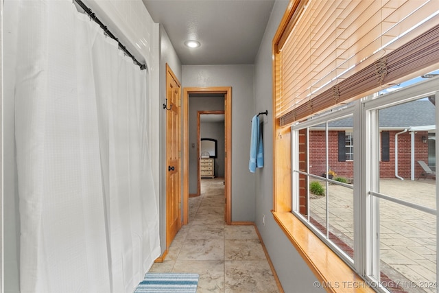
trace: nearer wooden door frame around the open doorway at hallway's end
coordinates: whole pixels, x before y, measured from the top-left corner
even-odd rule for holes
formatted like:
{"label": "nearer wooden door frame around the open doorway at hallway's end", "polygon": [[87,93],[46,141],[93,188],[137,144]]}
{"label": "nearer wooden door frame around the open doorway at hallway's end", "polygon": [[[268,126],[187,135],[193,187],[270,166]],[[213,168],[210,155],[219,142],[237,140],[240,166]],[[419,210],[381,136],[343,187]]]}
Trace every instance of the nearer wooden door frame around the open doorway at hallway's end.
{"label": "nearer wooden door frame around the open doorway at hallway's end", "polygon": [[[224,220],[232,223],[232,87],[185,87],[183,89],[183,224],[189,222],[189,95],[193,93],[224,94]],[[199,174],[198,174],[199,175]],[[200,177],[200,176],[198,176]],[[200,178],[198,178],[200,180]]]}

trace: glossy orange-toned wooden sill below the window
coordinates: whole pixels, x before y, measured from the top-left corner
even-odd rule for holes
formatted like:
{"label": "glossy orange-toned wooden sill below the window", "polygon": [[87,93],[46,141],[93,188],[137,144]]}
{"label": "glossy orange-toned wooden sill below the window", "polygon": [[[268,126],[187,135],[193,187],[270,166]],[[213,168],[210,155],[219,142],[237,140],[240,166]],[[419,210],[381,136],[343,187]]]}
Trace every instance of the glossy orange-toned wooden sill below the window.
{"label": "glossy orange-toned wooden sill below the window", "polygon": [[[298,253],[316,275],[319,287],[327,292],[375,292],[368,287],[340,257],[298,218],[289,212],[272,211],[274,220],[281,226]],[[314,287],[318,287],[314,285]]]}

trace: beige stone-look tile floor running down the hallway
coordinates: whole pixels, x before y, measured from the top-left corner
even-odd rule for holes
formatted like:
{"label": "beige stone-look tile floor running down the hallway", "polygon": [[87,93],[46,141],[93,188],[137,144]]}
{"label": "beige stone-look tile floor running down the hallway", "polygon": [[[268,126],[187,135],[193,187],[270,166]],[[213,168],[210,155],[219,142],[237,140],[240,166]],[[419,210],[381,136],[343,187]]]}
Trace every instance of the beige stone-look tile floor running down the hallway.
{"label": "beige stone-look tile floor running down the hallway", "polygon": [[201,196],[189,198],[189,224],[150,272],[200,274],[197,293],[279,292],[254,226],[224,223],[222,178],[202,179]]}

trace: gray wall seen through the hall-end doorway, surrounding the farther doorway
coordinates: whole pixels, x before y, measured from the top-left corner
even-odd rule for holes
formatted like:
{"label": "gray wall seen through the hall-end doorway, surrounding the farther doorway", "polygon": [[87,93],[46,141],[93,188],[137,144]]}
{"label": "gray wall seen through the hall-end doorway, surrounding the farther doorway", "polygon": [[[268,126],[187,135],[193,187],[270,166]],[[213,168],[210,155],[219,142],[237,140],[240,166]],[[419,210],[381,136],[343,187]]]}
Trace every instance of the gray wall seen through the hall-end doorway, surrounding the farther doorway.
{"label": "gray wall seen through the hall-end doorway, surrounding the farther doorway", "polygon": [[[197,194],[197,123],[198,111],[203,110],[224,110],[224,97],[193,97],[189,95],[189,194]],[[192,143],[195,143],[195,148],[192,148]]]}

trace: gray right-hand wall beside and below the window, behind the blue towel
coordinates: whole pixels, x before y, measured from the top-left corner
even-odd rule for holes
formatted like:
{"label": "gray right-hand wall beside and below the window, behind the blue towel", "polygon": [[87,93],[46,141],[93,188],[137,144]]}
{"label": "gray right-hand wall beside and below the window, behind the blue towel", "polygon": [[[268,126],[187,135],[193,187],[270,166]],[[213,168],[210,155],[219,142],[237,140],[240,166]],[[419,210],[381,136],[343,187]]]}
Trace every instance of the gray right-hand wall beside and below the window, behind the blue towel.
{"label": "gray right-hand wall beside and below the window, behind the blue towel", "polygon": [[[274,222],[273,209],[273,123],[272,123],[272,39],[281,21],[288,1],[276,1],[265,29],[265,35],[259,47],[254,63],[254,107],[255,112],[268,109],[268,117],[263,117],[265,166],[254,174],[256,196],[255,222],[261,233],[263,243],[276,269],[285,292],[324,292],[313,287],[317,281],[313,272],[299,255],[278,224]],[[268,118],[268,119],[266,119]],[[265,215],[265,226],[262,224]]]}

